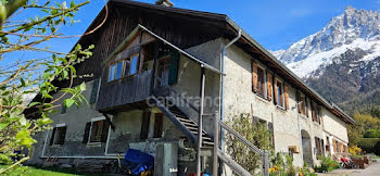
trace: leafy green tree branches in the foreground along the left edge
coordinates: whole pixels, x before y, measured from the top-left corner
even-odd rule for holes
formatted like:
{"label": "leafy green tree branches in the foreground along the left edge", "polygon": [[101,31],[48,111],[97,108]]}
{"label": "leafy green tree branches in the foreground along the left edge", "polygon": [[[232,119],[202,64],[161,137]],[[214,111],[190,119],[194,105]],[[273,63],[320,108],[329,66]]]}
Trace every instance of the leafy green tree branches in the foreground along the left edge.
{"label": "leafy green tree branches in the foreground along the left edge", "polygon": [[[46,0],[43,4],[28,0],[0,0],[0,164],[12,164],[1,168],[0,174],[28,160],[27,156],[17,155],[15,150],[30,148],[37,142],[33,138],[34,134],[49,128],[52,122],[49,114],[54,113],[55,108],[64,105],[68,109],[87,102],[81,95],[86,85],[83,83],[73,87],[73,80],[86,76],[77,75],[75,65],[90,58],[94,46],[83,48],[77,45],[69,53],[40,48],[41,43],[53,38],[75,37],[63,36],[59,29],[64,25],[74,25],[76,12],[87,3],[89,1],[72,1],[67,7],[66,2],[52,3],[51,0]],[[28,10],[42,12],[43,15],[13,21]],[[85,35],[98,29],[105,18]],[[20,51],[39,51],[51,56],[33,59],[24,54],[26,59],[11,63],[7,61]],[[69,84],[54,86],[54,81],[64,80]],[[63,96],[53,98],[60,91]],[[39,101],[25,103],[24,97],[30,93],[38,93]],[[63,104],[58,104],[62,99]],[[35,110],[38,118],[28,120],[25,116],[24,110],[30,109]],[[16,155],[22,159],[17,162],[11,160]]]}

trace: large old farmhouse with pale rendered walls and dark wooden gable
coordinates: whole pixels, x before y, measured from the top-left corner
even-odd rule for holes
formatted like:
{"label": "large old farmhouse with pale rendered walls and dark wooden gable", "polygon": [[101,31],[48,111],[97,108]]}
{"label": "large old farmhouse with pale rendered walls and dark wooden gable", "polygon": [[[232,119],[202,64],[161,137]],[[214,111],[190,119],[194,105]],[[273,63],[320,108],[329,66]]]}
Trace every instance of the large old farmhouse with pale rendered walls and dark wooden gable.
{"label": "large old farmhouse with pale rendered walls and dark wooden gable", "polygon": [[214,118],[240,113],[266,123],[276,152],[291,153],[296,166],[347,152],[354,121],[227,15],[167,4],[107,2],[105,24],[78,41],[96,46],[76,65],[78,75],[93,76],[74,80],[86,81],[89,105],[58,109],[53,128],[37,134],[30,163],[105,165],[138,149],[155,156],[162,175],[195,173],[199,156],[211,169]]}

